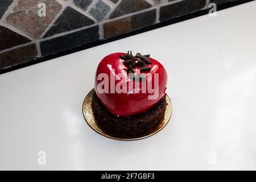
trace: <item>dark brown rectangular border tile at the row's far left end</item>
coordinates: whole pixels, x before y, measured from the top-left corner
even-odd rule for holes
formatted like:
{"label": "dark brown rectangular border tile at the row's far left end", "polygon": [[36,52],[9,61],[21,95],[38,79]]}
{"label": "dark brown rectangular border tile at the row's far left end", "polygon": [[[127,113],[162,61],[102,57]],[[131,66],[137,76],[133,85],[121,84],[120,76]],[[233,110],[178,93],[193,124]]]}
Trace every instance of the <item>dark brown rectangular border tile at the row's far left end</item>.
{"label": "dark brown rectangular border tile at the row's far left end", "polygon": [[24,47],[12,49],[0,53],[0,69],[13,67],[21,63],[31,61],[38,55],[36,44],[29,44]]}

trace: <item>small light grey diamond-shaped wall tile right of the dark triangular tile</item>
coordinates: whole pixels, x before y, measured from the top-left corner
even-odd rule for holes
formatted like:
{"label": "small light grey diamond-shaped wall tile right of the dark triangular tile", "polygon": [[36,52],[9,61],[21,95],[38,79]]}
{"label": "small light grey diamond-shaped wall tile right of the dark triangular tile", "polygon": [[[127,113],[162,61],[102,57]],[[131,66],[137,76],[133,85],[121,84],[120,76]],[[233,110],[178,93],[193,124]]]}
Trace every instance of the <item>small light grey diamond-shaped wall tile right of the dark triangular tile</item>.
{"label": "small light grey diamond-shaped wall tile right of the dark triangular tile", "polygon": [[100,22],[109,13],[110,9],[108,4],[100,0],[90,9],[90,14]]}

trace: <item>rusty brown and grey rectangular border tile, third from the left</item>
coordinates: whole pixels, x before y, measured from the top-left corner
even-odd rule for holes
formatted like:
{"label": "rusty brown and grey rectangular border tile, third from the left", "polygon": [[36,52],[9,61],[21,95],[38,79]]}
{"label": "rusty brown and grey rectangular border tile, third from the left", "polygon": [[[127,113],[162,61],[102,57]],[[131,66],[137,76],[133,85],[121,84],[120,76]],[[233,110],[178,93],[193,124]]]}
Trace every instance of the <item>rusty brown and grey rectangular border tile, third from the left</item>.
{"label": "rusty brown and grey rectangular border tile, third from the left", "polygon": [[104,24],[104,37],[111,38],[117,35],[125,34],[155,24],[156,10],[150,10],[143,13],[128,16],[106,22]]}

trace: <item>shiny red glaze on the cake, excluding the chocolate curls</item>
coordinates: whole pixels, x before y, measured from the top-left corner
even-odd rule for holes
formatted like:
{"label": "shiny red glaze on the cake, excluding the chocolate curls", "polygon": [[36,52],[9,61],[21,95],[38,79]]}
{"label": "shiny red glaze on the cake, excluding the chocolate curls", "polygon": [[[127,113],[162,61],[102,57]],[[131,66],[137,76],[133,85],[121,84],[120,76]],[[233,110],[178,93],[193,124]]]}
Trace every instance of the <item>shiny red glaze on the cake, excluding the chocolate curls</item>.
{"label": "shiny red glaze on the cake, excluding the chocolate curls", "polygon": [[[130,115],[142,113],[143,111],[146,111],[150,109],[152,106],[154,106],[160,98],[162,98],[166,93],[166,84],[167,84],[167,72],[166,69],[164,69],[163,65],[160,64],[158,61],[151,59],[150,61],[152,64],[147,65],[148,67],[151,67],[150,73],[158,73],[159,74],[159,94],[158,97],[154,100],[148,99],[148,96],[154,95],[154,93],[142,93],[142,85],[139,85],[139,93],[138,89],[135,90],[129,90],[129,86],[127,86],[127,93],[117,93],[115,92],[115,85],[121,81],[121,78],[124,79],[124,81],[129,84],[129,82],[132,82],[130,80],[129,76],[127,75],[126,71],[124,68],[126,68],[125,65],[123,65],[123,60],[119,58],[120,55],[125,55],[125,53],[112,53],[100,62],[98,65],[97,71],[96,71],[96,77],[95,77],[95,85],[94,89],[96,91],[96,94],[101,101],[101,103],[113,114],[115,115],[121,115],[123,117],[129,117]],[[140,74],[140,68],[137,67],[135,70],[135,73]],[[98,80],[98,75],[100,73],[106,73],[108,75],[109,80],[109,93],[100,93],[98,88],[98,84],[101,81],[104,81],[102,79]],[[118,73],[121,73],[123,77],[118,77]],[[146,73],[148,75],[148,73]],[[110,82],[110,78],[115,78],[115,81]],[[152,74],[151,79],[147,78],[147,82],[152,83],[152,88],[155,89],[154,85],[154,79],[155,75]],[[114,89],[112,90],[112,93],[110,93],[110,88]]]}

